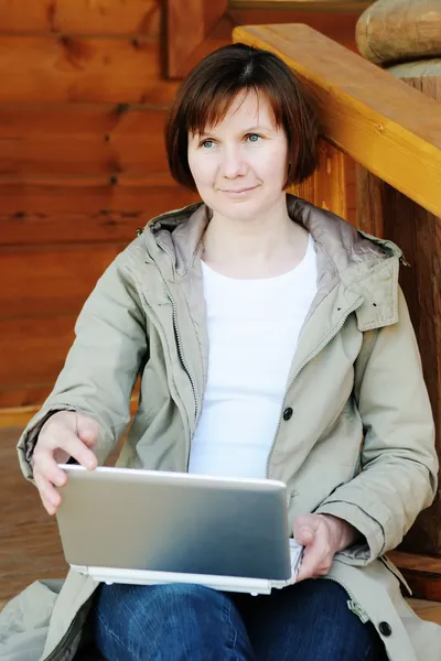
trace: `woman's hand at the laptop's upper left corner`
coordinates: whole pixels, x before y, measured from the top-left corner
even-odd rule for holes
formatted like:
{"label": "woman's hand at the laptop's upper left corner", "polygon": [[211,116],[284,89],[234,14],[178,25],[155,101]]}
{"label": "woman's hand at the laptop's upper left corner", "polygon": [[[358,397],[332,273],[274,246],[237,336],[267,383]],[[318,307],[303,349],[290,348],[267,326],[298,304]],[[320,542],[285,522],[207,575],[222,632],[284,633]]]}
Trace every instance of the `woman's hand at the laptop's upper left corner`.
{"label": "woman's hand at the laptop's upper left corner", "polygon": [[58,411],[42,426],[33,456],[33,475],[40,497],[49,514],[61,505],[55,487],[66,484],[66,474],[57,464],[74,457],[85,468],[96,468],[97,458],[92,452],[98,441],[98,423],[75,411]]}

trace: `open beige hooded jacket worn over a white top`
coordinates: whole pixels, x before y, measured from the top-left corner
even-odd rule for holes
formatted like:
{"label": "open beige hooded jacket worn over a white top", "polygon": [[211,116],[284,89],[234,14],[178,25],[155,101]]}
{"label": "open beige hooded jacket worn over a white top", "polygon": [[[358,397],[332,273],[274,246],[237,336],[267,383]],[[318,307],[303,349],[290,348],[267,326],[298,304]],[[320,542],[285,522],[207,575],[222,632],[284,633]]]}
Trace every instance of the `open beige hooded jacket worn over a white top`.
{"label": "open beige hooded jacket worn over a white top", "polygon": [[[280,419],[268,477],[287,484],[291,523],[298,514],[325,512],[363,533],[366,542],[337,554],[329,578],[374,622],[389,659],[440,661],[441,627],[407,607],[398,572],[384,557],[431,503],[438,474],[419,353],[398,286],[401,252],[299,198],[288,196],[288,209],[315,239],[319,281],[281,408],[293,415]],[[129,421],[137,375],[140,403],[119,465],[186,470],[207,375],[200,261],[207,221],[203,204],[159,217],[100,278],[54,390],[20,438],[28,478],[39,430],[61,409],[98,421],[103,462]],[[1,659],[69,661],[96,587],[71,572],[57,598],[54,585],[36,583],[12,600],[0,618]],[[34,602],[32,590],[40,595]],[[20,636],[21,653],[14,651]],[[26,655],[26,649],[34,651]]]}

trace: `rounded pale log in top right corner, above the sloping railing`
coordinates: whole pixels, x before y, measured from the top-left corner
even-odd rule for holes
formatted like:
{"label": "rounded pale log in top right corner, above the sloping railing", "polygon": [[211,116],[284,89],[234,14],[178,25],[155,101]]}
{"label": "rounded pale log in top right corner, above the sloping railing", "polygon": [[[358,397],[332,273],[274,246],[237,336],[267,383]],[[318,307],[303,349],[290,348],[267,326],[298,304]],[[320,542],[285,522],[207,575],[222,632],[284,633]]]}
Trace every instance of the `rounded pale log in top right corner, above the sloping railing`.
{"label": "rounded pale log in top right corner, above the sloping railing", "polygon": [[377,64],[441,55],[439,0],[378,0],[361,17],[356,42]]}

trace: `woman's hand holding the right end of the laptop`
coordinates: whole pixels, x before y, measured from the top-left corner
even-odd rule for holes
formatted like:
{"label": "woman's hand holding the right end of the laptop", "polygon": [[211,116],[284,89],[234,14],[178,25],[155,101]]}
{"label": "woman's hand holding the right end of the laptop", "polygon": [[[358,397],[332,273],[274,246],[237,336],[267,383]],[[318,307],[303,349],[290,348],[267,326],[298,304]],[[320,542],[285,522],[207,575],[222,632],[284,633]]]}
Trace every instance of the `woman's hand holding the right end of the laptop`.
{"label": "woman's hand holding the right end of the laptop", "polygon": [[294,539],[303,544],[303,560],[297,581],[324,576],[335,553],[349,546],[359,532],[349,523],[331,514],[305,514],[294,521]]}

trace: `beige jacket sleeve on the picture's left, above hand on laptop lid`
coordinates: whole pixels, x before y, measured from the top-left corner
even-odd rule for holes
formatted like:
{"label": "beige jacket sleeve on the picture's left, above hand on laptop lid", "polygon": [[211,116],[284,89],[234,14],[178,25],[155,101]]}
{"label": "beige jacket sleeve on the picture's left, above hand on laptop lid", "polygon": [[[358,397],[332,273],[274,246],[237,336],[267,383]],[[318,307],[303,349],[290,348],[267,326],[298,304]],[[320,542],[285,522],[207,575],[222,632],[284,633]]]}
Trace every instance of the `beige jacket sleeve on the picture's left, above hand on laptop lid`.
{"label": "beige jacket sleeve on the picture's left, above hand on laptop lid", "polygon": [[53,391],[23,431],[18,453],[32,480],[32,452],[44,422],[56,411],[77,411],[98,422],[95,453],[103,463],[130,420],[130,395],[147,353],[146,318],[122,252],[98,280],[75,325]]}

